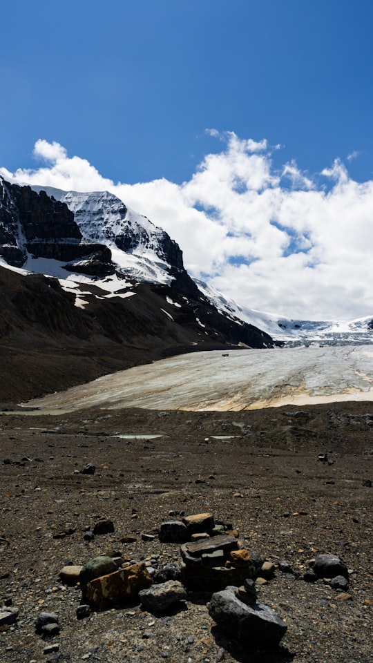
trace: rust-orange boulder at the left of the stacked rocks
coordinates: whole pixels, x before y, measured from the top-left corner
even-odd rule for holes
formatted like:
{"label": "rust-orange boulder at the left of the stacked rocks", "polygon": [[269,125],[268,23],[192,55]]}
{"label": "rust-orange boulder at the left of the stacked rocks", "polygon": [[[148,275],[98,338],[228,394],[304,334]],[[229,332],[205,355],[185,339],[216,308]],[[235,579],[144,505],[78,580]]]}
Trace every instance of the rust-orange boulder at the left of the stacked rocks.
{"label": "rust-orange boulder at the left of the stacked rocks", "polygon": [[151,583],[151,575],[144,563],[131,564],[88,582],[86,599],[92,608],[106,608],[136,596]]}

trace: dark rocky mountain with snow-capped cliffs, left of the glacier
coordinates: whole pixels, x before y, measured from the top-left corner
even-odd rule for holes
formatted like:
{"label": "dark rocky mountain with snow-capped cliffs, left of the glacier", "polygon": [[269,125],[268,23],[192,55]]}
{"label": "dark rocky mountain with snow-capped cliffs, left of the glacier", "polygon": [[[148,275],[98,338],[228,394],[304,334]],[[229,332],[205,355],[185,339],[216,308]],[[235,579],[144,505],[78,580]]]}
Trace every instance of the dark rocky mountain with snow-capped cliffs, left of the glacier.
{"label": "dark rocky mountain with snow-capped cliffs, left of the glacier", "polygon": [[[62,386],[196,349],[274,345],[218,311],[178,244],[111,193],[38,189],[0,177],[0,349],[26,351],[21,370],[31,362],[27,379],[39,372],[40,390],[56,388],[39,369],[48,347]],[[83,361],[73,376],[75,357],[92,354],[95,365]]]}

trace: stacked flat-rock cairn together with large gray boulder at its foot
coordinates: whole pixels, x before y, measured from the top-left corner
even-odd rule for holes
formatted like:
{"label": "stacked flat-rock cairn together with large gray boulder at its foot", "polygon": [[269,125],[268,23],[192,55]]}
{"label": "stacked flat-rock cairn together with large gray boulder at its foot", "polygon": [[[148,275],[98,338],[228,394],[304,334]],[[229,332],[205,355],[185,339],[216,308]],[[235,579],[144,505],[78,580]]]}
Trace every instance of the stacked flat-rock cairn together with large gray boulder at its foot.
{"label": "stacked flat-rock cairn together with large gray boulder at its foot", "polygon": [[162,523],[159,537],[182,544],[182,584],[212,593],[209,614],[218,626],[239,642],[278,646],[287,626],[272,608],[257,602],[255,588],[256,577],[271,577],[274,565],[263,564],[260,555],[245,548],[236,530],[201,513]]}

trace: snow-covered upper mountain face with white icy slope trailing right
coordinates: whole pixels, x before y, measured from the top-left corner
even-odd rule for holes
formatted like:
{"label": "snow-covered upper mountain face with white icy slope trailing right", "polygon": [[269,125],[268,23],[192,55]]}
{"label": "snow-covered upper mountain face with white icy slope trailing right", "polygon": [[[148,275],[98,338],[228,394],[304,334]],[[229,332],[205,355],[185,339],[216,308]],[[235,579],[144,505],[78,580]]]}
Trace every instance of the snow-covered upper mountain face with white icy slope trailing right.
{"label": "snow-covered upper mountain face with white icy slope trailing right", "polygon": [[[184,269],[178,244],[108,191],[79,193],[33,186],[38,195],[32,198],[26,193],[31,191],[30,187],[13,185],[15,202],[9,195],[9,186],[12,185],[7,188],[3,182],[0,200],[3,213],[0,260],[3,256],[7,266],[55,276],[69,292],[82,291],[84,284],[89,288],[94,281],[102,288],[105,298],[131,295],[134,282],[173,287],[186,298],[209,302],[233,325],[256,327],[286,345],[373,341],[372,317],[294,320],[242,307],[206,283],[192,280]],[[46,199],[54,209],[52,224],[48,219],[50,211],[46,214]],[[21,216],[26,215],[26,223],[19,223],[17,206]],[[82,292],[77,298],[79,301],[84,302]]]}

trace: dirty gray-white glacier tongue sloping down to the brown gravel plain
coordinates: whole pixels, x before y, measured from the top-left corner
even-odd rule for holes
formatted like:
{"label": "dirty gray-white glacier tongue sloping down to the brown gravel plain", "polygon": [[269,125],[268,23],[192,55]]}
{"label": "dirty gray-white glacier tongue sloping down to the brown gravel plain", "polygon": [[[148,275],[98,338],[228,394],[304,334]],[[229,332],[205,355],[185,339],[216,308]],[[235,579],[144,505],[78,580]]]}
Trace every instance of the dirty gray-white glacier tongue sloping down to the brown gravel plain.
{"label": "dirty gray-white glacier tongue sloping down to the brown gravel plain", "polygon": [[372,345],[184,354],[27,405],[65,411],[87,407],[239,411],[334,401],[373,401]]}

